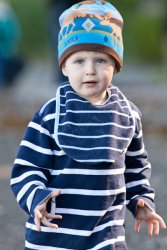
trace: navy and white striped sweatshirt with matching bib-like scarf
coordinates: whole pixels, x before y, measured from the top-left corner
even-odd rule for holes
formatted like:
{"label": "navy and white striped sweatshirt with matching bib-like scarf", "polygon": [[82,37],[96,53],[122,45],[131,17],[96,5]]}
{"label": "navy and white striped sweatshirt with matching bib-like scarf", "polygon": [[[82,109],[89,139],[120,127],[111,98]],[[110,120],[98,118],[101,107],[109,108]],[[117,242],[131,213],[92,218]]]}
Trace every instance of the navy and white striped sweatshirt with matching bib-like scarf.
{"label": "navy and white striped sweatshirt with matching bib-like scarf", "polygon": [[[151,165],[140,112],[115,86],[103,105],[78,96],[69,83],[29,123],[12,171],[11,187],[29,215],[25,250],[125,250],[125,207],[135,216],[143,198],[154,210]],[[34,209],[51,194],[48,211],[58,229],[38,232]]]}

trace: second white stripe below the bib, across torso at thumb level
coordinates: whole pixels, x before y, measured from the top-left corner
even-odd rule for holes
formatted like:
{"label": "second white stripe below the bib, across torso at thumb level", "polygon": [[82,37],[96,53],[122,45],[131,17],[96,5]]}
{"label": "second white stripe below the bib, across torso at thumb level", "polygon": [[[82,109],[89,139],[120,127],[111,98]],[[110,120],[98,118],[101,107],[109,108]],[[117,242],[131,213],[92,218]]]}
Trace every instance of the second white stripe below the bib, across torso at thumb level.
{"label": "second white stripe below the bib, across torso at thumb level", "polygon": [[118,188],[111,190],[88,190],[88,189],[74,189],[74,188],[64,188],[61,189],[61,194],[74,194],[74,195],[88,195],[88,196],[110,196],[120,193],[125,193],[126,188]]}

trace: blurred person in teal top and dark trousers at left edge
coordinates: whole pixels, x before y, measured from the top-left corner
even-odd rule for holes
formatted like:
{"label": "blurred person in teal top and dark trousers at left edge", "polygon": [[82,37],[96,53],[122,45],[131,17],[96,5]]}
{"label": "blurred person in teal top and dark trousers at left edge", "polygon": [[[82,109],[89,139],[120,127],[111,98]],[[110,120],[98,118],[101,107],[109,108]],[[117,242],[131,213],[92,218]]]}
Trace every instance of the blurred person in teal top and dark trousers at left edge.
{"label": "blurred person in teal top and dark trousers at left edge", "polygon": [[0,1],[0,86],[13,83],[23,68],[19,57],[21,29],[9,3]]}

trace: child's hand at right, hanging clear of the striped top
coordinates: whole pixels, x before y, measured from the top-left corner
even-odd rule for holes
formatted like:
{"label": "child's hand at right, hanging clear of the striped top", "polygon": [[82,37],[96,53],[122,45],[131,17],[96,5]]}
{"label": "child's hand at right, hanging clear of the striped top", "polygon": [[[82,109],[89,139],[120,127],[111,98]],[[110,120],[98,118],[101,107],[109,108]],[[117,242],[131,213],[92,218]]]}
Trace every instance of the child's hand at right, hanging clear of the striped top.
{"label": "child's hand at right, hanging clear of the striped top", "polygon": [[151,211],[149,207],[144,203],[143,199],[138,201],[137,215],[135,222],[135,231],[139,233],[141,222],[145,221],[148,226],[148,235],[159,235],[159,229],[166,229],[166,224],[161,216]]}

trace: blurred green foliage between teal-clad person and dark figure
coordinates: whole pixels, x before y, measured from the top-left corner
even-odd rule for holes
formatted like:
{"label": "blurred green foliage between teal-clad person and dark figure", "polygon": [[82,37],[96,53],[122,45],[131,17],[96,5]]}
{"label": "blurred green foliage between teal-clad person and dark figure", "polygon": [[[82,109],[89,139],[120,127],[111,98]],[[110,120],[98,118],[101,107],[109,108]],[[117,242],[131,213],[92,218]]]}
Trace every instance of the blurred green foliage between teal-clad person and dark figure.
{"label": "blurred green foliage between teal-clad person and dark figure", "polygon": [[22,28],[21,52],[25,56],[44,56],[48,51],[45,0],[8,0]]}

